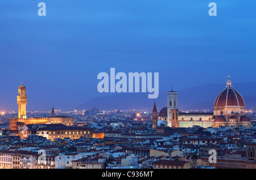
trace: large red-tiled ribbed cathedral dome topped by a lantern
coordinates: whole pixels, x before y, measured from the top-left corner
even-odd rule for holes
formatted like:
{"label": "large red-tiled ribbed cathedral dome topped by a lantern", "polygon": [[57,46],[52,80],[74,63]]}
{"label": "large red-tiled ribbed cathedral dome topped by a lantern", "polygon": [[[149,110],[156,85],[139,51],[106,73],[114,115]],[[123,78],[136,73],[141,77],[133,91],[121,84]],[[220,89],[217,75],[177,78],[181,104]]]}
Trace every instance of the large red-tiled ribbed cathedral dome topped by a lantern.
{"label": "large red-tiled ribbed cathedral dome topped by a lantern", "polygon": [[215,108],[224,106],[245,106],[245,101],[240,93],[232,87],[230,79],[227,81],[226,88],[218,94],[214,101]]}

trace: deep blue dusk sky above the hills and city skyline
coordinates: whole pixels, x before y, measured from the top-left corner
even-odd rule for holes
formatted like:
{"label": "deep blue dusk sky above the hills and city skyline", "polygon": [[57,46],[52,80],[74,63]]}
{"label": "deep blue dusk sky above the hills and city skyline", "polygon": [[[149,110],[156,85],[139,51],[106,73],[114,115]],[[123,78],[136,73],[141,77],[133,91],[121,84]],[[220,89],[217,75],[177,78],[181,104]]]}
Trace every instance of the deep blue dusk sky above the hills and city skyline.
{"label": "deep blue dusk sky above the hills and city skyline", "polygon": [[[38,16],[38,3],[47,16]],[[217,16],[208,15],[216,2]],[[159,72],[159,91],[255,82],[255,1],[0,2],[0,109],[72,108],[102,96],[97,75]]]}

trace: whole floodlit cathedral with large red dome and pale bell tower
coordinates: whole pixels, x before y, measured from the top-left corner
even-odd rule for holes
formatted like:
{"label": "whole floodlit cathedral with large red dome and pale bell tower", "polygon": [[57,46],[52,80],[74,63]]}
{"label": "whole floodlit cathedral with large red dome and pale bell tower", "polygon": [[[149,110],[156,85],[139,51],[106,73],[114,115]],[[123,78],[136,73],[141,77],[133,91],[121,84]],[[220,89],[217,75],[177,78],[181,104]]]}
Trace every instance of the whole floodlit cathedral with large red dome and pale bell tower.
{"label": "whole floodlit cathedral with large red dome and pale bell tower", "polygon": [[179,112],[177,92],[169,91],[167,92],[167,107],[160,110],[157,119],[168,127],[251,127],[250,119],[245,115],[245,102],[240,93],[233,88],[230,77],[225,89],[214,101],[213,113]]}

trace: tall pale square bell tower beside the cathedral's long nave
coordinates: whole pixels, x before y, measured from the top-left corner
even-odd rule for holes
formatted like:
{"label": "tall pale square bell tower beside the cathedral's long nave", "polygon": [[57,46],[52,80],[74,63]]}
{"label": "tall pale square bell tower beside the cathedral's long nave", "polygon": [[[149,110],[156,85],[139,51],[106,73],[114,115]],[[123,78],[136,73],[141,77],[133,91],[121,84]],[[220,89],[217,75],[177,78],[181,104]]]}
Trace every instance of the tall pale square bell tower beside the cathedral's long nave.
{"label": "tall pale square bell tower beside the cathedral's long nave", "polygon": [[177,92],[167,92],[167,125],[168,127],[178,127],[178,109],[177,109]]}

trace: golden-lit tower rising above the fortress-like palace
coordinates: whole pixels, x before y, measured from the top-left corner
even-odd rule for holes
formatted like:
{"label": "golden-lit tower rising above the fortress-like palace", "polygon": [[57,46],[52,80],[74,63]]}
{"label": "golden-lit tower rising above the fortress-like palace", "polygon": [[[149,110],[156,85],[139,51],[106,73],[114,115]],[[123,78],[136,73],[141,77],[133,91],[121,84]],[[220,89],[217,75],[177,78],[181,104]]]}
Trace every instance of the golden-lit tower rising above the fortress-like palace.
{"label": "golden-lit tower rising above the fortress-like palace", "polygon": [[27,104],[26,86],[23,86],[23,83],[19,86],[19,95],[17,96],[17,104],[18,104],[18,118],[19,119],[27,118],[27,115],[26,115],[26,104]]}

